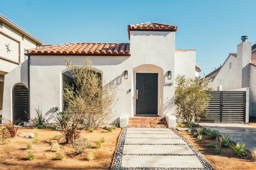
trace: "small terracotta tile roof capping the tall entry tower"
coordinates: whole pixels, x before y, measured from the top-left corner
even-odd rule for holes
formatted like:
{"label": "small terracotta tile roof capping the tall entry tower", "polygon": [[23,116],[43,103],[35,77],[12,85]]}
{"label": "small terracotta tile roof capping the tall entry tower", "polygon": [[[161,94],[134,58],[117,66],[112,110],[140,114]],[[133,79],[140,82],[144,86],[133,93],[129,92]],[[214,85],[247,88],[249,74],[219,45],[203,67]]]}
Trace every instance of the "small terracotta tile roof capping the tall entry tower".
{"label": "small terracotta tile roof capping the tall entry tower", "polygon": [[178,26],[169,25],[169,24],[162,24],[162,23],[155,23],[155,22],[145,22],[139,24],[132,24],[128,25],[128,36],[130,40],[130,30],[132,29],[152,29],[152,30],[173,30],[177,31]]}

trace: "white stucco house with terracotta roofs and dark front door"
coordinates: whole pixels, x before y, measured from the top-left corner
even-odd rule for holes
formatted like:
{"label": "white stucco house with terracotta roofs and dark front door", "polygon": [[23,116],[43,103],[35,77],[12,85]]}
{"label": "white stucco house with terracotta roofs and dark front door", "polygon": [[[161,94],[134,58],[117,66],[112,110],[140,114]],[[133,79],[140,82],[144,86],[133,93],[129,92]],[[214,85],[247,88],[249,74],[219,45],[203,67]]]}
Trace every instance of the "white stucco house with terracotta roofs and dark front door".
{"label": "white stucco house with terracotta roofs and dark front door", "polygon": [[201,71],[195,67],[196,50],[175,49],[177,30],[175,25],[139,23],[128,25],[130,43],[74,42],[29,49],[28,60],[5,75],[3,117],[12,121],[19,117],[13,114],[17,84],[29,92],[30,116],[38,106],[46,115],[56,107],[62,110],[63,83],[72,81],[64,57],[78,65],[90,57],[103,82],[118,85],[113,121],[119,122],[122,115],[172,115],[175,76],[195,78],[195,71]]}

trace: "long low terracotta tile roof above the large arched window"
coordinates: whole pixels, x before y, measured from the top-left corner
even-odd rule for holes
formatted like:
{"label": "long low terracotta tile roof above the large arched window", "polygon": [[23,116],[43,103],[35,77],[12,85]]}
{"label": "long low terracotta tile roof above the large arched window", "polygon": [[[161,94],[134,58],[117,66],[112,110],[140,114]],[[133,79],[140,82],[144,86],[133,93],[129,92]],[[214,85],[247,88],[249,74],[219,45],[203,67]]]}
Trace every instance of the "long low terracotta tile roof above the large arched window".
{"label": "long low terracotta tile roof above the large arched window", "polygon": [[130,43],[70,42],[64,44],[44,44],[43,47],[27,50],[29,54],[130,54]]}

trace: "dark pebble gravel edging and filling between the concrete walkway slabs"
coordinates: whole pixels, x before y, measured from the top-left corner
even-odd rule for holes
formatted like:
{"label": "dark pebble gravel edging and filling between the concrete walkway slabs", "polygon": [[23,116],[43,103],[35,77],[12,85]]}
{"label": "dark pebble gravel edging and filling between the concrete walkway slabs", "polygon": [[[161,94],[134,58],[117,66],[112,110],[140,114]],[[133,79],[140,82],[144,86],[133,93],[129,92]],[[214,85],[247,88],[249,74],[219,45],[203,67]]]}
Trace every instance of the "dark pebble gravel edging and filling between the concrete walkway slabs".
{"label": "dark pebble gravel edging and filling between the concrete walkway slabs", "polygon": [[[168,169],[168,170],[184,170],[184,169],[193,169],[193,170],[213,170],[213,168],[210,166],[210,164],[203,158],[203,156],[194,148],[193,145],[191,145],[179,132],[175,131],[172,128],[169,128],[172,130],[176,135],[178,135],[194,152],[194,155],[200,160],[200,162],[203,164],[204,168],[148,168],[148,167],[121,167],[122,162],[122,153],[123,153],[123,147],[124,147],[124,140],[126,136],[127,127],[123,128],[123,132],[120,137],[120,142],[117,147],[117,153],[116,158],[114,162],[113,169],[148,169],[148,170],[158,170],[158,169]],[[144,144],[142,144],[144,145]],[[124,155],[131,155],[131,154],[124,154]],[[138,154],[132,154],[132,155],[138,155]],[[166,155],[166,154],[142,154],[142,155]],[[187,156],[187,155],[177,155],[177,154],[168,154],[168,156]]]}

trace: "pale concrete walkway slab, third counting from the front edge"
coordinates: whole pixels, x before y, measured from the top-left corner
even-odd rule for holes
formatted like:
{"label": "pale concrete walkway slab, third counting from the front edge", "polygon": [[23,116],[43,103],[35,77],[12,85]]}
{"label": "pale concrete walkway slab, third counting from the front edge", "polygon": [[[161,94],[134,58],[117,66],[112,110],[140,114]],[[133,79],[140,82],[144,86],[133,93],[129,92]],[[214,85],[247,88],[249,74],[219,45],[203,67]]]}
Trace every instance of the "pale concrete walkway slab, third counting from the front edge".
{"label": "pale concrete walkway slab, third counting from the front edge", "polygon": [[[178,136],[177,136],[178,137]],[[178,138],[126,138],[124,144],[186,144]]]}

